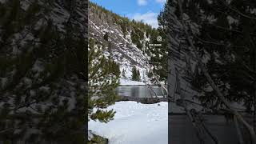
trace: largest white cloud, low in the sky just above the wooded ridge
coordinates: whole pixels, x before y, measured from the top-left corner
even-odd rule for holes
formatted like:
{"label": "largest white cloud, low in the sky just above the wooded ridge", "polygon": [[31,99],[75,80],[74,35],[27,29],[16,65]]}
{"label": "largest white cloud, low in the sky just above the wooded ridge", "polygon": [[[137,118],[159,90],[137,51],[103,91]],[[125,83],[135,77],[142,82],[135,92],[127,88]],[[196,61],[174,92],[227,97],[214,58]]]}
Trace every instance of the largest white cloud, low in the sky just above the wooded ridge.
{"label": "largest white cloud, low in the sky just above the wooded ridge", "polygon": [[147,12],[145,14],[130,14],[130,18],[133,18],[135,21],[142,21],[154,28],[158,27],[158,14],[153,12]]}

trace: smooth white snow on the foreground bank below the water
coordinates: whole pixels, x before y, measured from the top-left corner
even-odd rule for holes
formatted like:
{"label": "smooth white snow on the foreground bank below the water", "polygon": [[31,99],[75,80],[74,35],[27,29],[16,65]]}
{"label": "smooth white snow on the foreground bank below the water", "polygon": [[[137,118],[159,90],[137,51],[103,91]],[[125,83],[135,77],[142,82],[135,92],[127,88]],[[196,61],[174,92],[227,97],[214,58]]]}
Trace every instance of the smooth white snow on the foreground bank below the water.
{"label": "smooth white snow on the foreground bank below the water", "polygon": [[110,144],[167,144],[168,103],[142,104],[116,102],[114,120],[108,123],[90,120],[89,130],[109,139]]}

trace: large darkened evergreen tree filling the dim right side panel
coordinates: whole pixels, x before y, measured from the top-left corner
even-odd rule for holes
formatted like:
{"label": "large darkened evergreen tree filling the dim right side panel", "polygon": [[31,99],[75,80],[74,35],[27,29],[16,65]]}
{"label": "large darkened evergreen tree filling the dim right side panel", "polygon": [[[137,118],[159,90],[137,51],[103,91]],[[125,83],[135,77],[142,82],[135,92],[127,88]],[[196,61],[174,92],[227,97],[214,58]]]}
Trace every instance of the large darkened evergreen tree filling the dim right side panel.
{"label": "large darkened evergreen tree filling the dim right side panel", "polygon": [[[177,73],[183,70],[182,78],[198,90],[195,98],[202,102],[206,111],[229,109],[250,131],[250,138],[255,142],[256,39],[253,31],[256,18],[251,11],[255,9],[254,2],[188,0],[178,6],[179,2],[167,2],[169,10],[166,10],[172,60],[178,62],[177,59],[183,58],[186,61],[186,68],[176,66]],[[191,57],[186,54],[197,57],[198,64],[193,71]],[[247,114],[254,112],[254,130],[229,106],[231,102],[238,103],[239,108],[243,105]]]}

